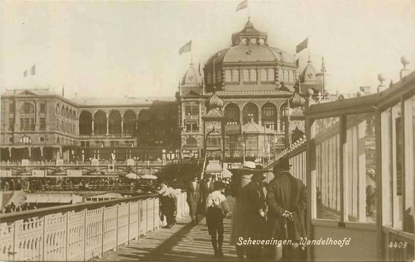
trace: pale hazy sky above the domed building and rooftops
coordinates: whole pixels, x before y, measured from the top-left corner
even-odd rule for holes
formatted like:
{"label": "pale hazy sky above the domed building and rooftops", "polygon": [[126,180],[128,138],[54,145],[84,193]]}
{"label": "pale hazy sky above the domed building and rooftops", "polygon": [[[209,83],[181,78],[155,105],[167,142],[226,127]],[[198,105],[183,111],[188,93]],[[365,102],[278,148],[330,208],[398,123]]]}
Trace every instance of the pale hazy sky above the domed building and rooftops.
{"label": "pale hazy sky above the domed building and rooftops", "polygon": [[[248,16],[268,44],[320,70],[330,92],[376,91],[415,64],[415,1],[11,2],[0,10],[0,88],[50,87],[65,97],[174,96],[189,67],[229,46]],[[192,40],[192,51],[178,50]],[[23,77],[32,65],[36,74]]]}

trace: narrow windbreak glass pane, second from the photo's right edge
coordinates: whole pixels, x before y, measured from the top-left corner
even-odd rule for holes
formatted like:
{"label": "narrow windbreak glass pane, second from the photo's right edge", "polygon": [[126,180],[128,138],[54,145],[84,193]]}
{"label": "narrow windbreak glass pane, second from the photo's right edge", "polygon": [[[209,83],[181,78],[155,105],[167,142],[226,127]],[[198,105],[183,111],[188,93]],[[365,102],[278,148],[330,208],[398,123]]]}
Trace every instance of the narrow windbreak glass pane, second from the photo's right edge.
{"label": "narrow windbreak glass pane, second from the photo's right edge", "polygon": [[401,103],[381,113],[383,224],[402,229],[402,112]]}

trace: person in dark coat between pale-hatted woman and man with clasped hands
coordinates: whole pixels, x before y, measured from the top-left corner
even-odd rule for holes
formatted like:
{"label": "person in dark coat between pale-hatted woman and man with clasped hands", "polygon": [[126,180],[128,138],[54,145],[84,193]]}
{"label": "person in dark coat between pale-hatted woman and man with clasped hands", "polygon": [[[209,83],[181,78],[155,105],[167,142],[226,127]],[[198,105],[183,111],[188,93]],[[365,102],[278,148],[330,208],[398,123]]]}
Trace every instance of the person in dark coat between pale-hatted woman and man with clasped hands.
{"label": "person in dark coat between pale-hatted woman and man with clasped hands", "polygon": [[[246,237],[251,239],[266,239],[267,225],[266,214],[268,211],[265,203],[265,192],[263,180],[266,178],[262,172],[256,172],[251,178],[251,182],[244,188],[245,200],[247,203],[247,232]],[[247,247],[247,257],[249,259],[260,259],[261,246],[252,245]]]}

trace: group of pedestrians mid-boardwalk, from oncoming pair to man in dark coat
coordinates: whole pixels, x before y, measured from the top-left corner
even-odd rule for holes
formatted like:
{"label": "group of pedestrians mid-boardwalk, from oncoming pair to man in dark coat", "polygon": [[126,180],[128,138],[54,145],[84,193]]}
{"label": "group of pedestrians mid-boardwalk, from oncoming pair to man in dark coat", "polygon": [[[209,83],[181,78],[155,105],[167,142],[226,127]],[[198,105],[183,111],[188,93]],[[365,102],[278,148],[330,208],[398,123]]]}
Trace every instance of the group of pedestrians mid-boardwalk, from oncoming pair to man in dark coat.
{"label": "group of pedestrians mid-boardwalk, from oncoming pair to man in dark coat", "polygon": [[[232,175],[235,203],[229,244],[235,246],[240,260],[245,257],[275,261],[302,259],[305,247],[300,246],[300,240],[306,237],[307,192],[304,183],[290,174],[290,167],[288,159],[279,159],[269,184],[265,182],[268,171],[254,162],[245,162]],[[223,257],[223,219],[229,212],[225,186],[222,181],[214,181],[205,174],[203,181],[194,176],[187,187],[192,223],[198,223],[198,214],[206,214],[215,257]],[[262,240],[286,241],[278,245],[258,244],[264,243]]]}

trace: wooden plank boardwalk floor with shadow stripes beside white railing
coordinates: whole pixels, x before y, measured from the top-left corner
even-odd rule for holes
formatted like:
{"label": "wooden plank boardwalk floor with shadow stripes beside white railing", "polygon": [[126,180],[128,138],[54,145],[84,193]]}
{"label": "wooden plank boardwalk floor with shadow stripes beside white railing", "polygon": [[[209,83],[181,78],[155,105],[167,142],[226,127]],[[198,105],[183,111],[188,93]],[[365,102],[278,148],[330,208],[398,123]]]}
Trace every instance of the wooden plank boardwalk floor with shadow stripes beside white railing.
{"label": "wooden plank boardwalk floor with shadow stripes beside white railing", "polygon": [[[233,210],[234,198],[228,197],[230,213]],[[228,245],[231,218],[224,219],[225,257],[213,257],[205,218],[199,225],[192,225],[190,217],[177,220],[171,229],[159,229],[130,245],[118,248],[98,258],[98,261],[141,260],[141,261],[207,261],[207,260],[237,260],[235,247]]]}

